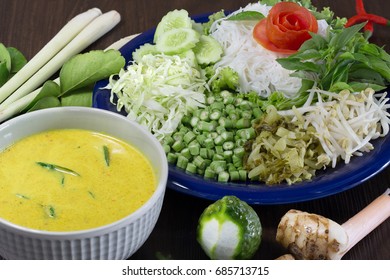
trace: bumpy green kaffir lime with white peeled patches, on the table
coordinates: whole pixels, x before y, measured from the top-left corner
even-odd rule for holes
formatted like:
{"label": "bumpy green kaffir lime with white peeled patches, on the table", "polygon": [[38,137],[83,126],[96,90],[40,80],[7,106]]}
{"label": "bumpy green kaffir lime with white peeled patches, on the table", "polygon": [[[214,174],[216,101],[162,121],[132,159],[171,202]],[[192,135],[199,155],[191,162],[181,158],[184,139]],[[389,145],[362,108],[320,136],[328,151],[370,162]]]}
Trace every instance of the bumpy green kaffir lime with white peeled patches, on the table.
{"label": "bumpy green kaffir lime with white peeled patches, on the table", "polygon": [[250,259],[261,237],[259,216],[235,196],[209,205],[199,218],[197,240],[211,259]]}

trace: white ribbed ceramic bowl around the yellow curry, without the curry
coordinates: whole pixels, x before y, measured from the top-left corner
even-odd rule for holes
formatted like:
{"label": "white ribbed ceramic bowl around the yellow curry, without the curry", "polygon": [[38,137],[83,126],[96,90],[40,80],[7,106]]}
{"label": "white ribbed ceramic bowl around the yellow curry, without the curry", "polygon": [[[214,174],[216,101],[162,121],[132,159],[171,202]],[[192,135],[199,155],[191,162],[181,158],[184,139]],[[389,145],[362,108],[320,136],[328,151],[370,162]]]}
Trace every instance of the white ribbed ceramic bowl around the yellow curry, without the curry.
{"label": "white ribbed ceramic bowl around the yellow curry, without the curry", "polygon": [[155,137],[116,113],[63,107],[27,113],[0,125],[0,150],[45,130],[78,128],[120,138],[137,147],[153,165],[158,185],[137,211],[112,224],[74,231],[50,232],[21,227],[0,218],[0,255],[6,259],[126,259],[149,237],[159,217],[168,177],[164,150]]}

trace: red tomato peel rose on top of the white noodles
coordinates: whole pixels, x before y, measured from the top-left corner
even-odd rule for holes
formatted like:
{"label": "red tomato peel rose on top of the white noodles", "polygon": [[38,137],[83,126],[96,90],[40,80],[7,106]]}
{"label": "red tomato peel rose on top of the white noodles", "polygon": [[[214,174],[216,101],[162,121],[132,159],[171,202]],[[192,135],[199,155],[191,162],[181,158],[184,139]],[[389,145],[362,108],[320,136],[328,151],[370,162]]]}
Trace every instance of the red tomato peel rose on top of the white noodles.
{"label": "red tomato peel rose on top of the white noodles", "polygon": [[293,2],[279,2],[253,29],[253,37],[264,48],[291,54],[296,52],[310,32],[317,33],[318,23],[306,8]]}

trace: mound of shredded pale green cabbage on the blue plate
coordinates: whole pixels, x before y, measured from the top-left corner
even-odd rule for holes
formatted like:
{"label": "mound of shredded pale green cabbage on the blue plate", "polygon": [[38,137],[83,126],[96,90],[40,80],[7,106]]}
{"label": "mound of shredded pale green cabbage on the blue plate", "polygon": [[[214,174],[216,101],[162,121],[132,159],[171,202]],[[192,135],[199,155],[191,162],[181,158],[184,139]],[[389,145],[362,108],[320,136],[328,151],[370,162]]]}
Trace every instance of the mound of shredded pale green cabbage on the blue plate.
{"label": "mound of shredded pale green cabbage on the blue plate", "polygon": [[184,115],[204,107],[205,84],[201,73],[186,58],[144,55],[110,77],[110,101],[117,110],[146,127],[157,139],[174,132]]}

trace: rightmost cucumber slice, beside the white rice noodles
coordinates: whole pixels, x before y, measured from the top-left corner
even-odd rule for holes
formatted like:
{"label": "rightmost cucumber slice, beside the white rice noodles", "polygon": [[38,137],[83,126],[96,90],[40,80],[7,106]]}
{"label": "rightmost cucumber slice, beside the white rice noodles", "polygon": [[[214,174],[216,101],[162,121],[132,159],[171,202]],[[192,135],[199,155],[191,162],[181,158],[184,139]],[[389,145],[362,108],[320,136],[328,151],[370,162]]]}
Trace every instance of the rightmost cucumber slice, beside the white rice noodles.
{"label": "rightmost cucumber slice, beside the white rice noodles", "polygon": [[213,37],[202,35],[194,48],[194,53],[199,64],[208,65],[221,59],[223,49]]}

